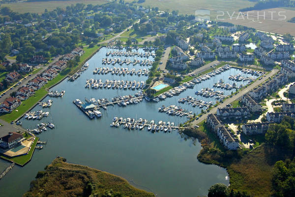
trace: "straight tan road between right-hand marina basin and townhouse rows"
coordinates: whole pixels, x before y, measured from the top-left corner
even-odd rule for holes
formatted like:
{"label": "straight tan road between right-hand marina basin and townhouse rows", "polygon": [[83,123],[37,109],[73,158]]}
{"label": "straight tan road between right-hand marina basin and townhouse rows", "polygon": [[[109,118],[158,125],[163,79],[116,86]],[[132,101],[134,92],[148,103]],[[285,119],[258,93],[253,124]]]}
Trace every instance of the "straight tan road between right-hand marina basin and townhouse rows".
{"label": "straight tan road between right-hand marina basin and townhouse rows", "polygon": [[276,74],[279,70],[278,69],[273,69],[271,70],[271,72],[269,72],[265,77],[263,77],[260,80],[255,81],[254,83],[252,83],[251,85],[249,85],[248,87],[246,87],[245,89],[239,91],[236,95],[234,95],[231,98],[225,99],[225,101],[223,103],[220,103],[217,107],[212,108],[209,112],[207,112],[206,114],[203,114],[203,116],[201,116],[198,120],[194,120],[192,122],[192,125],[197,125],[199,123],[201,123],[203,120],[205,120],[207,118],[208,114],[215,114],[217,108],[223,108],[226,107],[227,104],[233,102],[236,99],[239,99],[241,96],[243,96],[244,94],[246,94],[247,92],[249,92],[250,90],[252,90],[253,88],[255,88],[256,86],[258,86],[259,84],[262,84],[264,81],[266,81],[266,79],[268,79],[269,77],[273,76],[274,74]]}

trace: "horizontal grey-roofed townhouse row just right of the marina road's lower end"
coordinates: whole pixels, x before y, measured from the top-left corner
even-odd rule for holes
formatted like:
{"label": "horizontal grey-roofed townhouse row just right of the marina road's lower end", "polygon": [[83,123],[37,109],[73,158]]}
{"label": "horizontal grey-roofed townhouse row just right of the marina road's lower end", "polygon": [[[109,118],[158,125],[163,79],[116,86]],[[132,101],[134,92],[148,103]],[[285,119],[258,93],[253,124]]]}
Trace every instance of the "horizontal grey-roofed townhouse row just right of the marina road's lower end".
{"label": "horizontal grey-roofed townhouse row just right of the marina road's lower end", "polygon": [[248,107],[217,108],[216,115],[222,119],[248,118],[250,116],[250,110]]}

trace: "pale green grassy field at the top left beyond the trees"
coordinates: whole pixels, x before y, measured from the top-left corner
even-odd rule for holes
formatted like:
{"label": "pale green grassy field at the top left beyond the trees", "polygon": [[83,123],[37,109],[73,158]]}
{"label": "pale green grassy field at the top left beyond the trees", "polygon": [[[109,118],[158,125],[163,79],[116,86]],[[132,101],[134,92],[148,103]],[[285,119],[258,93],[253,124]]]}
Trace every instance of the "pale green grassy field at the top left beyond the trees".
{"label": "pale green grassy field at the top left beyond the trees", "polygon": [[84,3],[98,5],[106,3],[107,0],[52,0],[52,1],[34,1],[34,2],[19,2],[19,3],[1,3],[1,7],[10,7],[13,11],[19,13],[33,12],[44,13],[45,8],[48,11],[54,10],[57,7],[66,8],[71,4]]}

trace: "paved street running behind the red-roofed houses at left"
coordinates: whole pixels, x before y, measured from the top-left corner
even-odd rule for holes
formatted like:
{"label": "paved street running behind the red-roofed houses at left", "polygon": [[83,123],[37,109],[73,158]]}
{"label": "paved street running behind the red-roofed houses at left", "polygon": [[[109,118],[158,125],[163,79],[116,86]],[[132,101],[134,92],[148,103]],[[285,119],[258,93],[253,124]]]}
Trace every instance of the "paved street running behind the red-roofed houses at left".
{"label": "paved street running behind the red-roofed houses at left", "polygon": [[2,98],[0,98],[0,103],[3,102],[5,99],[9,98],[10,97],[10,94],[12,92],[17,91],[23,85],[26,85],[30,80],[32,80],[33,78],[35,78],[37,75],[41,74],[45,69],[48,68],[48,66],[51,66],[55,62],[59,61],[59,58],[60,58],[60,56],[58,58],[56,58],[54,61],[52,61],[50,64],[48,64],[47,66],[39,66],[41,69],[37,73],[32,74],[31,76],[27,75],[26,76],[27,79],[25,79],[25,78],[20,79],[19,81],[21,81],[22,83],[20,85],[16,85],[15,84],[14,86],[12,86],[13,87],[13,90],[10,90],[10,88],[9,88],[6,91],[4,91],[3,93],[6,93],[6,94]]}

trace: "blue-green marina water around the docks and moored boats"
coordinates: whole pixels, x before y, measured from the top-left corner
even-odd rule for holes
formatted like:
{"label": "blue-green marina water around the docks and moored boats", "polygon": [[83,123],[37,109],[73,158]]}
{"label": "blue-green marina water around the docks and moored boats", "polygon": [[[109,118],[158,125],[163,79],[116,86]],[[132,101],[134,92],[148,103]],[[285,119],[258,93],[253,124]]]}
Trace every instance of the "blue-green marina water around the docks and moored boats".
{"label": "blue-green marina water around the docks and moored boats", "polygon": [[[36,106],[32,111],[42,109],[49,111],[50,115],[41,121],[21,119],[23,127],[34,129],[41,122],[53,122],[54,130],[48,129],[38,136],[42,141],[47,141],[43,150],[36,150],[31,162],[24,167],[15,166],[3,180],[0,181],[0,196],[17,197],[29,190],[29,183],[34,179],[39,170],[52,162],[57,156],[67,159],[70,163],[88,165],[99,170],[107,171],[127,179],[134,186],[153,192],[158,197],[179,196],[205,196],[208,188],[215,183],[229,184],[226,169],[217,165],[202,164],[197,155],[201,150],[198,141],[181,137],[177,131],[171,133],[124,130],[111,128],[113,117],[143,118],[147,120],[163,120],[174,122],[176,125],[187,120],[186,117],[169,116],[159,113],[161,105],[181,105],[183,108],[200,113],[201,109],[191,107],[186,103],[179,104],[179,98],[187,96],[196,97],[194,94],[202,88],[212,88],[213,84],[221,78],[225,83],[233,83],[228,80],[229,75],[241,73],[241,70],[231,68],[221,75],[196,85],[193,89],[187,89],[177,97],[168,98],[161,102],[142,101],[138,104],[126,107],[108,106],[107,110],[100,109],[101,118],[90,120],[81,110],[73,104],[74,99],[85,101],[85,98],[103,99],[120,95],[134,95],[137,91],[120,89],[86,89],[87,79],[109,80],[137,80],[145,81],[148,76],[137,75],[93,75],[96,67],[113,67],[102,65],[102,58],[109,50],[102,48],[88,62],[89,69],[74,82],[62,81],[52,90],[65,90],[62,98],[53,99],[50,108]],[[142,49],[139,49],[142,50]],[[116,57],[116,56],[114,56]],[[114,58],[110,57],[110,58]],[[131,57],[121,57],[121,59]],[[146,58],[137,58],[146,59]],[[152,60],[151,57],[149,57]],[[133,57],[131,61],[133,60]],[[119,65],[115,65],[118,67]],[[148,66],[133,66],[132,64],[122,67],[129,69],[148,68]],[[242,73],[241,73],[242,74]],[[240,82],[246,84],[247,82]],[[239,83],[239,84],[240,84]],[[231,91],[230,91],[231,92]],[[229,94],[230,92],[226,92]],[[200,98],[202,99],[202,98]],[[208,100],[213,98],[207,98]],[[203,98],[203,100],[205,100]],[[0,161],[0,169],[8,164]],[[17,190],[15,189],[17,186]]]}

